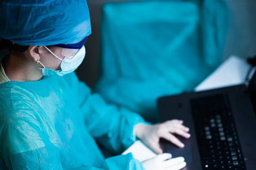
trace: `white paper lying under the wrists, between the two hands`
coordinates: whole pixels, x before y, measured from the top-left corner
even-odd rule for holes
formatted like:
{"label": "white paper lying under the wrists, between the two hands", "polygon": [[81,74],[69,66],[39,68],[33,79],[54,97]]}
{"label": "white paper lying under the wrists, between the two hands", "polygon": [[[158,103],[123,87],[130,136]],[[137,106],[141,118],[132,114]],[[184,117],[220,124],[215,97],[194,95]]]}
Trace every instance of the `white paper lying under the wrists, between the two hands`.
{"label": "white paper lying under the wrists, between the two hands", "polygon": [[143,162],[145,160],[154,158],[157,156],[152,150],[150,150],[145,144],[141,141],[136,141],[134,144],[131,145],[127,150],[125,150],[122,155],[126,155],[128,153],[132,153],[135,159]]}

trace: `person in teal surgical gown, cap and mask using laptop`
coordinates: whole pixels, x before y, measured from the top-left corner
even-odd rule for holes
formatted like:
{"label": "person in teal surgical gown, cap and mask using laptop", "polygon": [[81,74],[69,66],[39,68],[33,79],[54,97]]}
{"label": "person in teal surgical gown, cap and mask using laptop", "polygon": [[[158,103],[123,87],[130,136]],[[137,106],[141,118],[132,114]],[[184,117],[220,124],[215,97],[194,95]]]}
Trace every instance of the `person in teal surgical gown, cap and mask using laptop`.
{"label": "person in teal surgical gown, cap and mask using laptop", "polygon": [[[178,170],[184,159],[161,154],[159,138],[179,147],[181,120],[150,125],[137,113],[107,105],[74,70],[91,33],[86,0],[0,3],[1,170]],[[1,53],[0,53],[1,54]],[[2,53],[3,54],[3,53]],[[141,139],[160,154],[140,163],[119,155]],[[169,160],[168,160],[169,159]]]}

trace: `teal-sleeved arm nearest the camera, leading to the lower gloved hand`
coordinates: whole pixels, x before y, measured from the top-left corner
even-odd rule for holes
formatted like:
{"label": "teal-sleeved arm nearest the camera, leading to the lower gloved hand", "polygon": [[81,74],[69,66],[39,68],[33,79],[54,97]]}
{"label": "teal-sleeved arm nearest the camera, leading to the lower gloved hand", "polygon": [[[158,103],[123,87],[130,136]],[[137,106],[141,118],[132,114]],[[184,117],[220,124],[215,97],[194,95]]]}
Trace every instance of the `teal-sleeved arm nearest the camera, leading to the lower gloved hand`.
{"label": "teal-sleeved arm nearest the camera, leading to the lower gloved hand", "polygon": [[[0,152],[6,169],[9,170],[62,170],[59,149],[49,141],[44,128],[38,122],[33,111],[18,111],[21,119],[6,122],[0,132],[0,138],[5,139]],[[17,112],[12,113],[17,115]],[[29,116],[28,116],[29,115]],[[10,119],[9,119],[10,120]],[[18,122],[17,122],[18,121]],[[77,170],[144,170],[142,164],[135,160],[131,154],[105,159],[97,167],[79,167]]]}

